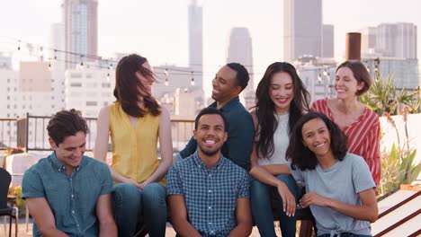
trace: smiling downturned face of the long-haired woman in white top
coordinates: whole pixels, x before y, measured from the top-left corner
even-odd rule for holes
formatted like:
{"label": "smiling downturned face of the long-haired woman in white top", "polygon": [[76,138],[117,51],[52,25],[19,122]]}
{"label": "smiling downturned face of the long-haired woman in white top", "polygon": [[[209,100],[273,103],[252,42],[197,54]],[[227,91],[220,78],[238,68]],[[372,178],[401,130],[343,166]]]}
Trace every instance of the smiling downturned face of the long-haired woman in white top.
{"label": "smiling downturned face of the long-haired woman in white top", "polygon": [[269,96],[278,114],[287,113],[294,98],[294,86],[291,75],[285,72],[274,74],[269,89]]}

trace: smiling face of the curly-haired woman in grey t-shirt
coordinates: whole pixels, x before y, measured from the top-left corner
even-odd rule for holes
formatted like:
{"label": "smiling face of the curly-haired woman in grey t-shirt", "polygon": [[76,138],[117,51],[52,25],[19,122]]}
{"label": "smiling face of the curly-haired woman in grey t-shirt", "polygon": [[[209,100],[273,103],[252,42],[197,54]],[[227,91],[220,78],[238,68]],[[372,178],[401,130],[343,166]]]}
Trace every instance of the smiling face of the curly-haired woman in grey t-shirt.
{"label": "smiling face of the curly-haired woman in grey t-shirt", "polygon": [[332,155],[330,132],[321,118],[313,118],[301,129],[302,143],[317,157]]}

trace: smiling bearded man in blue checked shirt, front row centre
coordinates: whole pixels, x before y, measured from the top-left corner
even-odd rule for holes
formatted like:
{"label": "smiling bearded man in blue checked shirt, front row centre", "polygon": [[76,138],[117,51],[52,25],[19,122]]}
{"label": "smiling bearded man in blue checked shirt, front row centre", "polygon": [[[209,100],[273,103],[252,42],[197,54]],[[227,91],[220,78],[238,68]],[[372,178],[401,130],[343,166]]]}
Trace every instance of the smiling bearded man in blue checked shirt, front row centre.
{"label": "smiling bearded man in blue checked shirt, front row centre", "polygon": [[221,154],[227,120],[203,109],[194,123],[198,151],[167,175],[171,221],[181,236],[248,236],[252,217],[246,171]]}

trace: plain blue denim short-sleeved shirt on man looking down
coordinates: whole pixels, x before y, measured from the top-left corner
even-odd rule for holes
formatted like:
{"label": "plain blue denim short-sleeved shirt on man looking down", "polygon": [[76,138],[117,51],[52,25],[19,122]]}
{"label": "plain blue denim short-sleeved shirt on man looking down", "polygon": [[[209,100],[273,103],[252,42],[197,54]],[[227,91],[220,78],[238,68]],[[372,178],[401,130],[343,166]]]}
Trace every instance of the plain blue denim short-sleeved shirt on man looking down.
{"label": "plain blue denim short-sleeved shirt on man looking down", "polygon": [[[25,171],[22,180],[22,198],[46,198],[57,229],[69,236],[98,236],[96,201],[111,192],[109,168],[87,156],[69,176],[53,152]],[[33,236],[41,236],[36,224]]]}

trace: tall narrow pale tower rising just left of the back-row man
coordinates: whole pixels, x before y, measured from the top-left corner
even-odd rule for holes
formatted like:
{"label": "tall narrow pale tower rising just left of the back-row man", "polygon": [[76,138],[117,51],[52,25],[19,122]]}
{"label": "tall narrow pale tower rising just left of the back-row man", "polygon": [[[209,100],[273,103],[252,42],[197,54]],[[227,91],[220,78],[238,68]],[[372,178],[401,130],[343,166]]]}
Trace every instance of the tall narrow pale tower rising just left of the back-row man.
{"label": "tall narrow pale tower rising just left of the back-row man", "polygon": [[202,40],[202,6],[193,0],[188,6],[189,11],[189,65],[193,74],[194,87],[202,90],[202,72],[203,72],[203,40]]}

